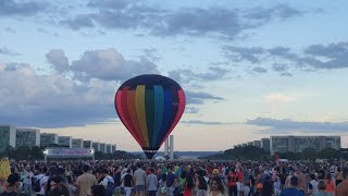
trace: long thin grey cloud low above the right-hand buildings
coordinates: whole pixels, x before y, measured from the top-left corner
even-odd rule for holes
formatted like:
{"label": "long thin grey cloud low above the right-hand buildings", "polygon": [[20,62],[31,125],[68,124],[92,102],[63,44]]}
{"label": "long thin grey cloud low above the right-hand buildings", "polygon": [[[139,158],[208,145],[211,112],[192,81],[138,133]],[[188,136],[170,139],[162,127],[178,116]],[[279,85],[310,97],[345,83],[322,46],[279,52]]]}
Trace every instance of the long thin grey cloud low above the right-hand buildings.
{"label": "long thin grey cloud low above the right-hand buildings", "polygon": [[288,133],[299,131],[302,133],[340,133],[348,131],[348,122],[297,122],[290,119],[277,120],[271,118],[257,118],[247,120],[246,124],[265,126],[264,132]]}

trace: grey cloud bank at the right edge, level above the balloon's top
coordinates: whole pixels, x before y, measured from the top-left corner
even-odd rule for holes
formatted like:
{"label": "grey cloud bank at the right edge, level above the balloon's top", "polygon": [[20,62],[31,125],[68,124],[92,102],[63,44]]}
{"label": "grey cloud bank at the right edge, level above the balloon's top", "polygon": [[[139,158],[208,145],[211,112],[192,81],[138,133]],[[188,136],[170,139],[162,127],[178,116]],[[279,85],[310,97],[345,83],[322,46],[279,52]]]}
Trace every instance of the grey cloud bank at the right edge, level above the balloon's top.
{"label": "grey cloud bank at the right edge, level above the balloon's top", "polygon": [[[333,70],[348,68],[348,42],[340,41],[330,45],[310,45],[300,52],[294,52],[287,47],[235,47],[223,46],[224,56],[233,62],[262,63],[273,62],[273,71],[283,76],[291,76],[290,68],[295,70]],[[278,63],[282,61],[283,63]],[[290,66],[291,65],[291,66]]]}

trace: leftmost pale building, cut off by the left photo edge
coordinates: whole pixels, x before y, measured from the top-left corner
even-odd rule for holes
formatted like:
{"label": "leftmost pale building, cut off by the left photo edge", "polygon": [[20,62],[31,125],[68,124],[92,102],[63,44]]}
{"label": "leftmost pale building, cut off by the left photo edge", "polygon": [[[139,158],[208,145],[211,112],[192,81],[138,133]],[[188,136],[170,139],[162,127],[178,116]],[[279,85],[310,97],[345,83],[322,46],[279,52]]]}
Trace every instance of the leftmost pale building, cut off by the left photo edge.
{"label": "leftmost pale building, cut off by the left photo edge", "polygon": [[15,126],[0,125],[0,152],[9,146],[15,147]]}

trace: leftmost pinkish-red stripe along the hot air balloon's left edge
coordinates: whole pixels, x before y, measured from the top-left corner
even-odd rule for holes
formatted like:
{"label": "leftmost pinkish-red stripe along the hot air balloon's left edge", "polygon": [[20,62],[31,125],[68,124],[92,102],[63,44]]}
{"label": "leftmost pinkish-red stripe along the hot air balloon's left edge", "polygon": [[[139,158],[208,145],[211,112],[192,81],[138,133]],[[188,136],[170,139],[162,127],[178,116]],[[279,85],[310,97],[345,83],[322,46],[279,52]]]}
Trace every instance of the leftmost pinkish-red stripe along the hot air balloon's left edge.
{"label": "leftmost pinkish-red stripe along the hot air balloon's left edge", "polygon": [[137,136],[137,134],[135,134],[134,128],[129,124],[129,121],[127,121],[127,119],[128,119],[128,118],[126,118],[127,108],[126,108],[126,106],[122,105],[122,98],[124,97],[125,94],[126,94],[126,91],[119,90],[115,96],[115,103],[116,103],[116,107],[119,110],[120,120],[125,124],[126,128],[129,131],[132,136],[138,142],[138,144],[140,144],[139,137]]}

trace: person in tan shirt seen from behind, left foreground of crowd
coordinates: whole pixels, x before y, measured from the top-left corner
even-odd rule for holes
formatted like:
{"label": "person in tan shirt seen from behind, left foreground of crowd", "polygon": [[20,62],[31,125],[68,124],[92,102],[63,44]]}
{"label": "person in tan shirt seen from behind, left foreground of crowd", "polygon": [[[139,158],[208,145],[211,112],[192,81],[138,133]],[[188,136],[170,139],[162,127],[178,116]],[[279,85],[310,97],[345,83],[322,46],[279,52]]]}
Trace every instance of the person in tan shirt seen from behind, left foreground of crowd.
{"label": "person in tan shirt seen from behind, left foreground of crowd", "polygon": [[87,164],[83,166],[84,174],[79,175],[76,180],[76,195],[87,196],[91,195],[90,188],[97,185],[97,179],[90,173],[90,168]]}

